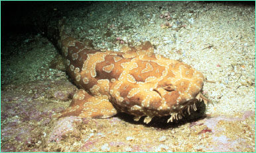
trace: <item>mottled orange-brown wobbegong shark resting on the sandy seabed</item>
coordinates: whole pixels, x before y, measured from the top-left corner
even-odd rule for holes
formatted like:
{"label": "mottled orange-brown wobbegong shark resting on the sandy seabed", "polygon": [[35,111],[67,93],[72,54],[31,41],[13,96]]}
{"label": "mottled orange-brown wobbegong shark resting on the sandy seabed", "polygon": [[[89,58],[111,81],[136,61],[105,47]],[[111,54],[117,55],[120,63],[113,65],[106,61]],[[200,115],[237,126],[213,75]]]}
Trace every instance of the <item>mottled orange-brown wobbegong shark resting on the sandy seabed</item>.
{"label": "mottled orange-brown wobbegong shark resting on the sandy seabed", "polygon": [[66,70],[80,90],[56,118],[104,118],[124,111],[135,115],[135,121],[144,115],[145,123],[164,115],[173,121],[182,118],[184,109],[196,110],[195,102],[202,100],[202,73],[153,54],[150,42],[123,47],[121,52],[101,52],[67,36],[63,25],[60,38]]}

